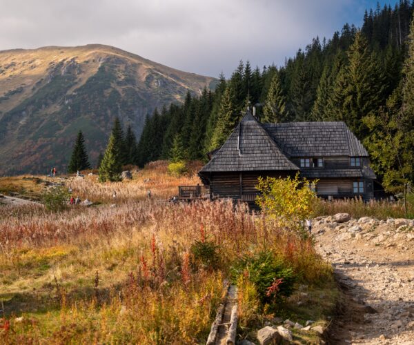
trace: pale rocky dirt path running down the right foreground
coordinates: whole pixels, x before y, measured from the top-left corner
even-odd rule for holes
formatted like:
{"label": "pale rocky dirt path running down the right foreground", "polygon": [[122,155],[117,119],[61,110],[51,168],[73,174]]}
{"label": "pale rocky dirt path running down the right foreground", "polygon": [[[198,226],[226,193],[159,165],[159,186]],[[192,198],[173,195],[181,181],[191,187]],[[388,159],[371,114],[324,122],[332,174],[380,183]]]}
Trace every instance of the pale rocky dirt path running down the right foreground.
{"label": "pale rocky dirt path running down the right foreground", "polygon": [[340,218],[313,228],[344,291],[331,343],[414,345],[414,221]]}

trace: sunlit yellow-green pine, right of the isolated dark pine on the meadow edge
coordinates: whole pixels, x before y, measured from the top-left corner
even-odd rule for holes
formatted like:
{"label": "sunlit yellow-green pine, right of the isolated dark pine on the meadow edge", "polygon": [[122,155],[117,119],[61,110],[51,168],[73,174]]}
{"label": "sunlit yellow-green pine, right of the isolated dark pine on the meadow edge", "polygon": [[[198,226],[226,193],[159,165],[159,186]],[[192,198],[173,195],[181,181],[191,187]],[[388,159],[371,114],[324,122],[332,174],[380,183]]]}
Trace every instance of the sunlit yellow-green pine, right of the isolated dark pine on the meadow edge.
{"label": "sunlit yellow-green pine, right of the isolated dark pine on the meadow edge", "polygon": [[99,182],[119,181],[121,170],[121,152],[112,133],[99,167]]}

